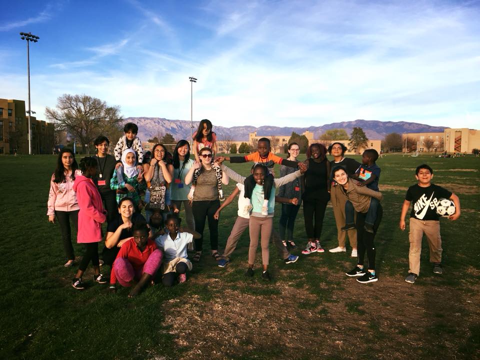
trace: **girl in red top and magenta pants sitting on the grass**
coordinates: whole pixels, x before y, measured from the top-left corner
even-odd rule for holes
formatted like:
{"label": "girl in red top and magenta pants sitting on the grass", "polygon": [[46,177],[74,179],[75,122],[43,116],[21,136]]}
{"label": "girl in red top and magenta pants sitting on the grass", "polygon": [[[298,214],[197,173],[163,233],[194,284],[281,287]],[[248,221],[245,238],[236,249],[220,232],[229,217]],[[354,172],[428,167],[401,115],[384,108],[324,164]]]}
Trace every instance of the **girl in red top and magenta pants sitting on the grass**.
{"label": "girl in red top and magenta pants sitting on the grass", "polygon": [[118,251],[110,274],[110,290],[115,291],[116,281],[124,287],[131,287],[128,297],[137,295],[149,283],[160,267],[162,252],[155,242],[148,238],[146,222],[136,222],[130,237]]}

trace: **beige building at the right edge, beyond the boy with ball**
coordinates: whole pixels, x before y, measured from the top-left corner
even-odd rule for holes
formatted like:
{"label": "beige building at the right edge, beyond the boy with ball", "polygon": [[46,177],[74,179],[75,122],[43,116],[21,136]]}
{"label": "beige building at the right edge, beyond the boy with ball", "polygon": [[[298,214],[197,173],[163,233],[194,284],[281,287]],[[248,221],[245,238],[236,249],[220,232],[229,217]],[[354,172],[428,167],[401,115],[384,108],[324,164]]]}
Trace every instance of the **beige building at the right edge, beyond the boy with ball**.
{"label": "beige building at the right edge, beyond the boy with ball", "polygon": [[463,128],[446,128],[443,132],[409,132],[401,136],[403,150],[405,140],[418,142],[418,151],[447,151],[471,153],[480,148],[480,131]]}

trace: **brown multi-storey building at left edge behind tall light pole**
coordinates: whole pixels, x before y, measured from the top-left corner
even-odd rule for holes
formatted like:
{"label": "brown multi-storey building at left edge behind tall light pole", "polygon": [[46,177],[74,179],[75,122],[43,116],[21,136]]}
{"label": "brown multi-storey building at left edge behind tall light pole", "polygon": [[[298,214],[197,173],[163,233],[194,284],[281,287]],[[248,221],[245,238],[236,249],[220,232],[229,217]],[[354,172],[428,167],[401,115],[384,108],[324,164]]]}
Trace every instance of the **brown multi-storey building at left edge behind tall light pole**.
{"label": "brown multi-storey building at left edge behind tall light pole", "polygon": [[[31,153],[52,153],[54,128],[50,122],[30,116]],[[0,98],[0,154],[28,154],[28,117],[25,101]]]}

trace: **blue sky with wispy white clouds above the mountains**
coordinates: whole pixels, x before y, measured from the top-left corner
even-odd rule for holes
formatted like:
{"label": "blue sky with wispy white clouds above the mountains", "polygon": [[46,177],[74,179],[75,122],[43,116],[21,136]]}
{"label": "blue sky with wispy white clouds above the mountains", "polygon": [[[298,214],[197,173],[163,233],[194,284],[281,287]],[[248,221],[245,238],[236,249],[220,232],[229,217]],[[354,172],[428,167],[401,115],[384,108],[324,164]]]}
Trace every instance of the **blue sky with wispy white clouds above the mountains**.
{"label": "blue sky with wispy white clouds above the mountains", "polygon": [[0,97],[44,119],[63,93],[127,116],[480,128],[480,0],[8,1]]}

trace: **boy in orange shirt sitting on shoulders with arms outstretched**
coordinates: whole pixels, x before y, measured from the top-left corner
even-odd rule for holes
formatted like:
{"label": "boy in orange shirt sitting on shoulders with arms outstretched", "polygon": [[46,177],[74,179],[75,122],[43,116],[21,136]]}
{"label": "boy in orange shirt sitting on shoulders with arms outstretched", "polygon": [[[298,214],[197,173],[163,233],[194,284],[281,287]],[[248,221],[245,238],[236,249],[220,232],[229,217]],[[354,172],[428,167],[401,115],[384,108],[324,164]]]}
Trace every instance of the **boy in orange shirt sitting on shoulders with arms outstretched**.
{"label": "boy in orange shirt sitting on shoulders with arms outstretched", "polygon": [[[266,216],[268,214],[268,199],[270,198],[271,187],[273,186],[273,175],[271,173],[273,170],[273,165],[277,163],[280,165],[285,165],[285,166],[294,167],[294,168],[298,167],[298,163],[296,161],[290,161],[280,156],[277,156],[271,153],[270,150],[271,150],[270,140],[267,137],[261,137],[258,140],[257,149],[255,152],[245,156],[225,157],[225,160],[230,162],[253,161],[255,162],[255,164],[266,166],[266,168],[268,169],[268,174],[265,176],[265,179],[263,181],[263,193],[265,196],[263,199],[263,204],[261,206],[261,214],[263,216]],[[251,199],[251,194],[256,184],[255,179],[253,178],[253,175],[250,175],[247,178],[245,178],[244,184],[245,184],[244,196],[248,199]],[[252,205],[250,204],[245,209],[245,211],[248,212],[251,210],[251,208],[252,208]]]}

